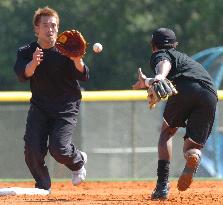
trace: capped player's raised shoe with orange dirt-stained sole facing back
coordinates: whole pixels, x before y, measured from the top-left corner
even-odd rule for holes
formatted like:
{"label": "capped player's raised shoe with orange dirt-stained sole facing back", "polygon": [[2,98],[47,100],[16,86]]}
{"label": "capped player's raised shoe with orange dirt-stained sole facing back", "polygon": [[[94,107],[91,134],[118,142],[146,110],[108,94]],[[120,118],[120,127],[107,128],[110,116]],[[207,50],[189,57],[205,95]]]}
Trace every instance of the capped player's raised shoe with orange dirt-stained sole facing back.
{"label": "capped player's raised shoe with orange dirt-stained sole facing back", "polygon": [[200,164],[200,155],[196,153],[188,154],[186,160],[186,165],[177,183],[177,188],[179,191],[185,191],[190,187],[193,177]]}

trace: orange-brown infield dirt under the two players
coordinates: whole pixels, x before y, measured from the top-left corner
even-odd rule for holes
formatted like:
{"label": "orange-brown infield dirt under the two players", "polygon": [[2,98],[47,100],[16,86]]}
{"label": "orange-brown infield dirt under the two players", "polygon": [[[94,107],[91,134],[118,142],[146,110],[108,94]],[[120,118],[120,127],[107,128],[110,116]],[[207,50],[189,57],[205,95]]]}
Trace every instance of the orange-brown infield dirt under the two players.
{"label": "orange-brown infield dirt under the two players", "polygon": [[[33,182],[0,182],[0,188],[33,187]],[[53,182],[47,196],[0,196],[0,205],[150,205],[150,204],[223,204],[223,181],[195,180],[191,188],[179,192],[171,181],[169,199],[151,201],[155,181],[84,182],[78,187],[70,181]]]}

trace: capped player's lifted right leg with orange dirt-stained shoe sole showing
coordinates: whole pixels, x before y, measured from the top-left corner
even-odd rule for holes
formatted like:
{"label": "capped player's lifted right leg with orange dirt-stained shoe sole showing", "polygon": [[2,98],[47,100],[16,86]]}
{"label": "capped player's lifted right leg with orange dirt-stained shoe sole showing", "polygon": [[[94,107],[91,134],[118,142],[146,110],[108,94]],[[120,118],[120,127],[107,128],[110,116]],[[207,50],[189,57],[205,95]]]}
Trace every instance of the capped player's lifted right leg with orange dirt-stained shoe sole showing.
{"label": "capped player's lifted right leg with orange dirt-stained shoe sole showing", "polygon": [[204,147],[212,130],[217,98],[209,90],[200,87],[196,104],[187,122],[184,141],[186,164],[178,180],[177,187],[185,191],[190,187],[201,160],[201,149]]}

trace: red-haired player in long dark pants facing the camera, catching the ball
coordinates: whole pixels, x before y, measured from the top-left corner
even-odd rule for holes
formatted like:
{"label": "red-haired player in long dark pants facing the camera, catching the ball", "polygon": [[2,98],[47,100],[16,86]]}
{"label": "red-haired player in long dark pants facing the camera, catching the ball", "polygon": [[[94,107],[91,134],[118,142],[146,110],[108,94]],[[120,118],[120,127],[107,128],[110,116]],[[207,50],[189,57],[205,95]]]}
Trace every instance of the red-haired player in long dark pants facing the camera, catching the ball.
{"label": "red-haired player in long dark pants facing the camera, catching the ball", "polygon": [[72,171],[72,182],[86,177],[86,153],[72,144],[81,103],[78,80],[89,78],[81,57],[68,58],[55,48],[59,16],[49,7],[39,8],[33,18],[37,41],[19,48],[14,65],[20,81],[30,81],[32,97],[27,116],[25,161],[35,187],[50,190],[51,180],[44,158],[54,159]]}

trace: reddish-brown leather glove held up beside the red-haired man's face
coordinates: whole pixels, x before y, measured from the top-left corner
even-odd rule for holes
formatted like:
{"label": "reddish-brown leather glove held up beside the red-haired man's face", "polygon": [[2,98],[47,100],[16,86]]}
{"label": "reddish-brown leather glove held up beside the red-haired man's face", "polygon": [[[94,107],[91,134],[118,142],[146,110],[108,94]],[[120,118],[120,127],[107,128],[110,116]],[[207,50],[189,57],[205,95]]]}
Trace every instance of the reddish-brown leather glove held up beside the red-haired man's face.
{"label": "reddish-brown leather glove held up beside the red-haired man's face", "polygon": [[83,57],[87,42],[79,31],[70,30],[58,35],[55,46],[67,57]]}

